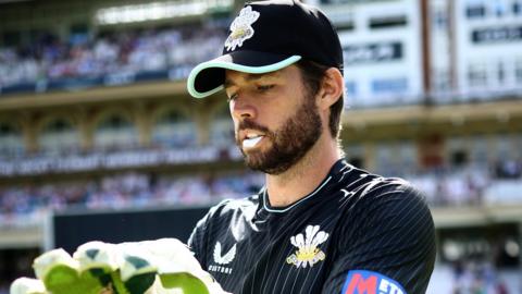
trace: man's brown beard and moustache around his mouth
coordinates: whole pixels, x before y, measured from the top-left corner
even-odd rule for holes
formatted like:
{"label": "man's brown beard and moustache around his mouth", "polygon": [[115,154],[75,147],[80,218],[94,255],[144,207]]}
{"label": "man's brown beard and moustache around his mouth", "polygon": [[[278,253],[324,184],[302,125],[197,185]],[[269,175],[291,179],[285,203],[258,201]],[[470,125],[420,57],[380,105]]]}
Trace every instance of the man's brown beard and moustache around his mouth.
{"label": "man's brown beard and moustache around his mouth", "polygon": [[313,97],[304,97],[304,103],[291,118],[274,132],[250,120],[239,123],[238,131],[250,128],[264,134],[272,144],[268,150],[245,151],[236,132],[236,144],[248,168],[268,174],[281,174],[301,160],[322,134],[322,122]]}

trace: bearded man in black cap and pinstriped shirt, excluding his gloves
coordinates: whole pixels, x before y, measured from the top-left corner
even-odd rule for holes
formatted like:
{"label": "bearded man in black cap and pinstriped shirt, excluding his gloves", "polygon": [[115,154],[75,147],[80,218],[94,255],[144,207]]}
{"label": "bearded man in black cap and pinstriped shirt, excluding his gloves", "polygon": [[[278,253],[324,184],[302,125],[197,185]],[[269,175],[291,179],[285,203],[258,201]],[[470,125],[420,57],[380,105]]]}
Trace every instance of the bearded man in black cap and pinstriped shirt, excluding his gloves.
{"label": "bearded man in black cap and pinstriped shirt, excluding his gloves", "polygon": [[298,1],[247,3],[223,56],[188,90],[225,89],[236,143],[266,174],[258,195],[213,207],[188,245],[233,293],[424,293],[434,225],[409,183],[348,164],[339,148],[343,50]]}

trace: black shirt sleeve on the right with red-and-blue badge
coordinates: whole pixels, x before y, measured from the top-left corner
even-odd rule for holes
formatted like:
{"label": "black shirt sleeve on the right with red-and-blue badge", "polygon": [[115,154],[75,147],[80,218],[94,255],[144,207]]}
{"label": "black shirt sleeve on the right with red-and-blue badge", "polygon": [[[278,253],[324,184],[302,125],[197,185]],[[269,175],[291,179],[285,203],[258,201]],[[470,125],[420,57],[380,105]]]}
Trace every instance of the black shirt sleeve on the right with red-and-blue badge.
{"label": "black shirt sleeve on the right with red-and-blue badge", "polygon": [[424,196],[405,181],[391,181],[351,201],[322,292],[425,293],[436,247]]}

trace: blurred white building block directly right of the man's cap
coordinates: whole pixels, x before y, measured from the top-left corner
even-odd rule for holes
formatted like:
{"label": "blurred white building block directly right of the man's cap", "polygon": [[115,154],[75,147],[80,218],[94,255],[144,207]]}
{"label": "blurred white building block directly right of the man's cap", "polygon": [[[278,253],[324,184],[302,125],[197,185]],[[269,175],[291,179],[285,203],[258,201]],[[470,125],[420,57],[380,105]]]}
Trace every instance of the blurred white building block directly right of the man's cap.
{"label": "blurred white building block directly right of the man's cap", "polygon": [[351,108],[419,105],[423,99],[420,1],[324,3],[345,53]]}

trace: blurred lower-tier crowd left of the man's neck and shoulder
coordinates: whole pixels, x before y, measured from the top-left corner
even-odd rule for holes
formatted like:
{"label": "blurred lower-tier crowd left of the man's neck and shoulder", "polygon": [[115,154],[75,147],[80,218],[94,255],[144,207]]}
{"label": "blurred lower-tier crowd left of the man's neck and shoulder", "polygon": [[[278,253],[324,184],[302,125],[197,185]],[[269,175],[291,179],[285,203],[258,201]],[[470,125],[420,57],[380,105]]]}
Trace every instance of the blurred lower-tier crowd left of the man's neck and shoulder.
{"label": "blurred lower-tier crowd left of the man's neck and shoulder", "polygon": [[174,176],[123,173],[63,183],[0,187],[0,223],[30,225],[42,213],[64,208],[124,209],[173,205],[209,205],[223,198],[256,194],[263,183],[257,173]]}

